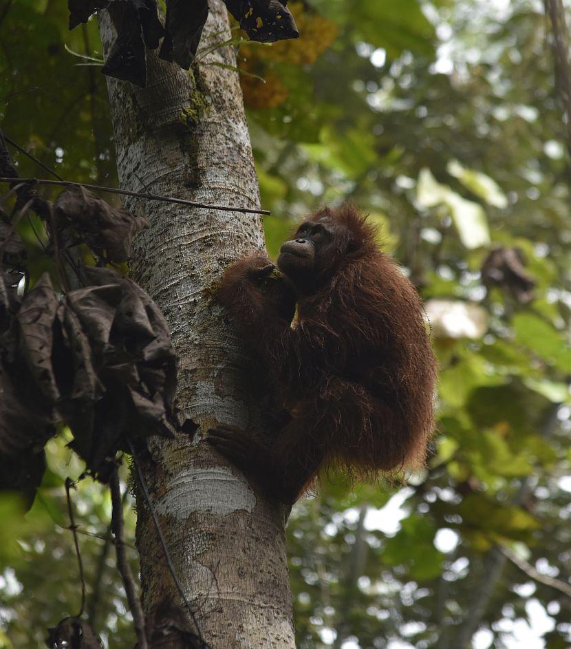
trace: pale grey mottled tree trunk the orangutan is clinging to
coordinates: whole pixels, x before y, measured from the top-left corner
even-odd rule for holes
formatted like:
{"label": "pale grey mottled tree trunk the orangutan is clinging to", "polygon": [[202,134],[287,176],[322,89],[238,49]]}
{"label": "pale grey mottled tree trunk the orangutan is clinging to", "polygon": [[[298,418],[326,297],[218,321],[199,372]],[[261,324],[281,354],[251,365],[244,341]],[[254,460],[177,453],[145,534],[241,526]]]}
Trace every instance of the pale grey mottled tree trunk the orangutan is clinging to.
{"label": "pale grey mottled tree trunk the orangutan is clinging to", "polygon": [[[107,54],[114,40],[107,12],[100,33]],[[226,8],[211,0],[200,50],[229,37]],[[191,72],[148,52],[147,88],[109,79],[123,189],[259,206],[238,75],[228,65],[236,65],[231,47],[215,49]],[[140,199],[126,206],[151,223],[134,246],[131,273],[169,322],[178,405],[200,427],[194,437],[153,438],[142,458],[177,574],[213,649],[293,648],[288,512],[200,442],[215,423],[248,429],[256,419],[244,386],[246,353],[212,295],[233,259],[263,250],[261,217]],[[137,544],[144,608],[166,594],[180,602],[142,498]]]}

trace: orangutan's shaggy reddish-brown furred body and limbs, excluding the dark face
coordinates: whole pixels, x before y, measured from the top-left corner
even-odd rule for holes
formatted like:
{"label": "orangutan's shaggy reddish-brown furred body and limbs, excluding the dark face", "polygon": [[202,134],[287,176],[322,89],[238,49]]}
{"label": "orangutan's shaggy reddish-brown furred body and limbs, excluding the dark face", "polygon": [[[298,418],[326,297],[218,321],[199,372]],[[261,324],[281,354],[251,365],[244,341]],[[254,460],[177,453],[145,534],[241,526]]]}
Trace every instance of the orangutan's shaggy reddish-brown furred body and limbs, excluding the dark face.
{"label": "orangutan's shaggy reddish-brown furred body and limbs, excluding the dark face", "polygon": [[352,206],[309,220],[324,216],[336,228],[334,251],[318,259],[314,285],[295,287],[293,326],[283,316],[291,286],[282,284],[277,308],[265,286],[279,280],[256,275],[266,257],[240,259],[219,291],[291,419],[269,449],[220,429],[211,442],[284,502],[324,463],[359,477],[418,467],[433,429],[436,363],[415,288]]}

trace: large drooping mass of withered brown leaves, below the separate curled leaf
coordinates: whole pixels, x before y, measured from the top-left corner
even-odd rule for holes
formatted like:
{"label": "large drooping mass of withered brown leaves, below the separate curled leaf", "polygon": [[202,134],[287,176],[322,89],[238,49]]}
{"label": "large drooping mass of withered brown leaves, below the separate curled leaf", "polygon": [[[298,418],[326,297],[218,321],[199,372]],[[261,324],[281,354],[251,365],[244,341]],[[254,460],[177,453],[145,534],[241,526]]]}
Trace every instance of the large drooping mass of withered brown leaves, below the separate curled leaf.
{"label": "large drooping mass of withered brown leaves, below the separate curled leaf", "polygon": [[[58,299],[46,273],[21,303],[2,278],[0,462],[28,467],[34,487],[57,422],[69,425],[72,448],[103,482],[126,435],[174,432],[175,354],[162,313],[114,270],[85,274],[90,286]],[[9,473],[1,485],[21,488]]]}

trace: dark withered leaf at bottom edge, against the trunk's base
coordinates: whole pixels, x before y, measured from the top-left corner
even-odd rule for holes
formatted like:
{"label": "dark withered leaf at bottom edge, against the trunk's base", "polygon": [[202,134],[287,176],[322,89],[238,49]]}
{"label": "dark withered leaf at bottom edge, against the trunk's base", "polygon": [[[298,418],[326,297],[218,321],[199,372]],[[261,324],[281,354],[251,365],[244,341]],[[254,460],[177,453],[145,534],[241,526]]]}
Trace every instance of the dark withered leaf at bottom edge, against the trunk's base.
{"label": "dark withered leaf at bottom edge, against the trunk's base", "polygon": [[186,613],[172,597],[153,606],[144,626],[149,649],[211,649],[191,630]]}

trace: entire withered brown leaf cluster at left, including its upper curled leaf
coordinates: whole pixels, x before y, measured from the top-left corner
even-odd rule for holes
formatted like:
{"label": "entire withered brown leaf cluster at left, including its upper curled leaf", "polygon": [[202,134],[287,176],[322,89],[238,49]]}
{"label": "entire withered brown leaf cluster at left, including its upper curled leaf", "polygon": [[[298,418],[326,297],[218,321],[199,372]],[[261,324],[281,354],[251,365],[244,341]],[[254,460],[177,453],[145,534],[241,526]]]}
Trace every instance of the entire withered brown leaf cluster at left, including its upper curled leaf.
{"label": "entire withered brown leaf cluster at left, including its upper curled leaf", "polygon": [[[65,189],[47,211],[48,248],[59,246],[61,255],[87,244],[100,262],[128,259],[133,236],[147,226],[83,187]],[[127,435],[174,432],[175,353],[164,316],[115,270],[78,272],[82,288],[59,295],[45,273],[19,297],[25,250],[0,213],[0,489],[21,491],[28,506],[58,423],[103,482],[116,452],[128,450]]]}

